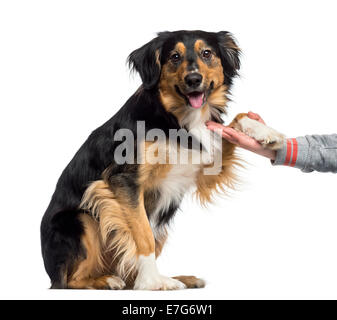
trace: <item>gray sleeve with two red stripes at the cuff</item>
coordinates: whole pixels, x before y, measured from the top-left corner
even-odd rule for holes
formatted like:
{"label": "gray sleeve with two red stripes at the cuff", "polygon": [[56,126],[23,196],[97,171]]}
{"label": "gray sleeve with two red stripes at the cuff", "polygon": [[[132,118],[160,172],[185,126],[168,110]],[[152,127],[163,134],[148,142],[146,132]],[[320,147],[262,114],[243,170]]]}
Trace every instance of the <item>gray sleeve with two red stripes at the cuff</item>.
{"label": "gray sleeve with two red stripes at the cuff", "polygon": [[337,173],[337,134],[287,139],[273,165],[288,165],[303,172]]}

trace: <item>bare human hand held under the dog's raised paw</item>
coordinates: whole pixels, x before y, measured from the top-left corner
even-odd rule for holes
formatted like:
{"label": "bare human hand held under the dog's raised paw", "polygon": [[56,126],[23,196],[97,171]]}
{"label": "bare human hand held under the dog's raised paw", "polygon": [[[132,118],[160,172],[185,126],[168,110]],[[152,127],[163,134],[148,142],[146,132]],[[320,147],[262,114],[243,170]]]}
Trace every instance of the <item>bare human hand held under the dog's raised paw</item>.
{"label": "bare human hand held under the dog's raised paw", "polygon": [[[248,117],[250,119],[253,119],[253,120],[256,120],[256,121],[259,121],[265,124],[263,119],[257,113],[248,112]],[[271,160],[275,160],[276,158],[276,152],[274,150],[264,148],[258,141],[247,136],[243,132],[237,131],[233,128],[224,126],[220,123],[216,123],[213,121],[207,122],[206,126],[208,129],[213,130],[213,131],[220,129],[221,135],[224,139],[226,139],[230,143],[238,145],[239,147],[243,149],[252,151],[256,154],[267,157]]]}

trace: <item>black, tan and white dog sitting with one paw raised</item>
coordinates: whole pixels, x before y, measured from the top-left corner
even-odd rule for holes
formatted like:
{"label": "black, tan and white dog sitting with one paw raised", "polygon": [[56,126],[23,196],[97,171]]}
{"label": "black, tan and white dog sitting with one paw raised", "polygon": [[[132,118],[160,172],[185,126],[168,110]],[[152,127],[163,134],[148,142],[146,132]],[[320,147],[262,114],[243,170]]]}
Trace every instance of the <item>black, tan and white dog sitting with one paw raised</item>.
{"label": "black, tan and white dog sitting with one paw raised", "polygon": [[[207,203],[235,184],[234,169],[240,165],[235,145],[220,139],[210,152],[205,122],[223,123],[240,49],[226,31],[161,32],[133,51],[128,62],[139,73],[141,87],[80,147],[43,216],[42,255],[51,288],[176,290],[205,285],[194,276],[161,275],[156,258],[188,190],[194,188]],[[243,130],[238,124],[245,118],[240,115],[233,127]],[[189,137],[170,150],[171,142],[164,143],[168,138],[142,138],[132,145],[140,138],[138,122],[145,134],[160,129],[168,137],[172,130],[183,130]],[[128,157],[121,148],[125,141],[116,137],[123,129],[133,135],[124,145]],[[193,146],[191,136],[201,147]],[[172,150],[180,154],[182,149],[204,154],[206,160],[165,161]],[[133,161],[136,155],[140,161]],[[205,174],[216,155],[218,172]],[[151,162],[151,157],[160,161]]]}

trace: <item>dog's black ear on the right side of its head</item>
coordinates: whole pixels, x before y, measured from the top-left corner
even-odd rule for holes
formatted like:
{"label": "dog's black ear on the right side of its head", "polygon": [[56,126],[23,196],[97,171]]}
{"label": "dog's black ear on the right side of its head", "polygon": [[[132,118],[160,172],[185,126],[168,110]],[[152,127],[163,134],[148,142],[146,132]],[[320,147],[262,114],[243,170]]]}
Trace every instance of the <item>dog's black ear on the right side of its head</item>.
{"label": "dog's black ear on the right side of its head", "polygon": [[240,48],[236,44],[233,36],[227,31],[217,33],[222,67],[225,81],[231,84],[231,79],[237,75],[240,69]]}

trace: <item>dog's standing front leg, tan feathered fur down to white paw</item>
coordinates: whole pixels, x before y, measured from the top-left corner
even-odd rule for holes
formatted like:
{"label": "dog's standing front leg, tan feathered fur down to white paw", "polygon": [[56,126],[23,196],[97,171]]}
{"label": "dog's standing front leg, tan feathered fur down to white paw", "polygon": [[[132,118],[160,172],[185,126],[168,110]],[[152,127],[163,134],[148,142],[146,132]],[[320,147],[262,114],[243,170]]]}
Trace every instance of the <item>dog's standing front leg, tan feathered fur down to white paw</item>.
{"label": "dog's standing front leg, tan feathered fur down to white paw", "polygon": [[[118,177],[112,185],[117,184]],[[134,179],[133,179],[134,180]],[[102,243],[106,252],[113,252],[116,272],[124,280],[135,279],[134,289],[176,290],[185,285],[179,280],[159,274],[155,257],[155,239],[148,221],[143,195],[131,193],[125,176],[119,188],[111,191],[105,181],[92,183],[85,192],[82,205],[99,217]],[[127,281],[129,282],[129,281]]]}

